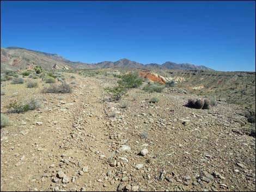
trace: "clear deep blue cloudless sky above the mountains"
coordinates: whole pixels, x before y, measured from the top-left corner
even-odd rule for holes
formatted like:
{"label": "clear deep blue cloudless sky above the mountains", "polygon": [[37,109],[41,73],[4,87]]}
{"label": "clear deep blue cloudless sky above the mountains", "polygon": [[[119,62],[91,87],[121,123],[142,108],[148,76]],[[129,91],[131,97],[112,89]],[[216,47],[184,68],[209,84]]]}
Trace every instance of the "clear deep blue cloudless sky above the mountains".
{"label": "clear deep blue cloudless sky above the mountains", "polygon": [[254,1],[1,1],[1,47],[255,71]]}

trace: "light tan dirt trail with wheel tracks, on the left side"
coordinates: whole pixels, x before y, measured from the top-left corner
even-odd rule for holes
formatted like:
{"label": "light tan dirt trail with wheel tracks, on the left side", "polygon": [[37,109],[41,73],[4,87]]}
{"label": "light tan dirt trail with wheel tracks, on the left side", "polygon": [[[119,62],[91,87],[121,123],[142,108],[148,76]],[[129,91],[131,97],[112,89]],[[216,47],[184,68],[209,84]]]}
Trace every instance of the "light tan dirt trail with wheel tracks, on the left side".
{"label": "light tan dirt trail with wheel tracks, on the left side", "polygon": [[[1,190],[111,190],[96,181],[104,170],[100,155],[109,155],[103,88],[93,78],[77,76],[77,82],[71,95],[44,95],[39,111],[12,114],[13,125],[1,130]],[[81,172],[84,166],[88,172]],[[58,170],[69,183],[52,182]]]}

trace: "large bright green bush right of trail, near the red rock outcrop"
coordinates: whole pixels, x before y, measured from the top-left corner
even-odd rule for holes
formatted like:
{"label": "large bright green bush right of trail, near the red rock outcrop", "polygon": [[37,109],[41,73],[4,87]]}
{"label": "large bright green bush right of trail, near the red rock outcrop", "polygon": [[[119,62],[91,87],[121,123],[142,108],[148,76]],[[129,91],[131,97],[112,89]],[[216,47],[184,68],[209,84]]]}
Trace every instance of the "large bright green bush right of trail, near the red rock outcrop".
{"label": "large bright green bush right of trail, near the red rock outcrop", "polygon": [[137,88],[139,85],[142,85],[142,78],[135,74],[126,74],[121,76],[121,79],[118,80],[118,84],[119,86],[125,86],[127,88]]}

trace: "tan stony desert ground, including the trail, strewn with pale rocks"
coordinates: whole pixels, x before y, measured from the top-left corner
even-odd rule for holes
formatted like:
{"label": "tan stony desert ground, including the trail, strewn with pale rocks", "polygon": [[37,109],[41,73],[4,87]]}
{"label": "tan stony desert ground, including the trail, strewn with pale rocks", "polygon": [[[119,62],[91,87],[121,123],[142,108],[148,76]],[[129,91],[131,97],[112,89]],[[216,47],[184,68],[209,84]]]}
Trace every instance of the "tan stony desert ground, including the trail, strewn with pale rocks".
{"label": "tan stony desert ground, including the trail, strewn with pale rocks", "polygon": [[[1,191],[255,190],[255,138],[242,131],[245,108],[218,102],[191,109],[185,104],[197,96],[178,88],[131,89],[110,102],[104,88],[117,79],[74,76],[72,94],[42,94],[42,83],[4,86],[1,113],[14,98],[38,97],[43,106],[6,114]],[[149,103],[153,96],[160,101]]]}

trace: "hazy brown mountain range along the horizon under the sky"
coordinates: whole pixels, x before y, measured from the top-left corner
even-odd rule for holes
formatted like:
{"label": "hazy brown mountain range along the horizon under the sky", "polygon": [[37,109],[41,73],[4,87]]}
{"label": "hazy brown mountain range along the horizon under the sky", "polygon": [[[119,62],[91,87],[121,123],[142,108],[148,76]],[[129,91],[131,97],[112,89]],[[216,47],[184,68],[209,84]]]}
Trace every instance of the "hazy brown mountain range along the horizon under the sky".
{"label": "hazy brown mountain range along the horizon under the sky", "polygon": [[80,61],[74,62],[61,57],[58,54],[33,51],[20,47],[1,48],[1,69],[17,70],[26,69],[28,65],[37,64],[44,69],[52,69],[54,64],[69,69],[104,69],[104,68],[138,68],[138,69],[179,69],[179,70],[203,70],[211,71],[209,67],[192,64],[176,64],[170,61],[160,65],[156,63],[141,64],[129,59],[118,61],[103,61],[96,64],[87,64]]}

